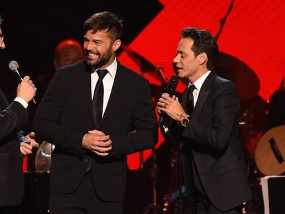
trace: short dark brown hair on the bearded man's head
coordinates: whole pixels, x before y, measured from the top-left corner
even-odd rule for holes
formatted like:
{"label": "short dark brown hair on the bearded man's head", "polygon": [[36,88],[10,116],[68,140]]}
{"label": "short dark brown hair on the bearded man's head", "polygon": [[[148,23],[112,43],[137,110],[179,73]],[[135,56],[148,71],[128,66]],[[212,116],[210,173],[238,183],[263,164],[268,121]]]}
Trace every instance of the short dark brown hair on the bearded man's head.
{"label": "short dark brown hair on the bearded man's head", "polygon": [[123,33],[123,19],[120,19],[116,14],[112,12],[98,12],[89,17],[84,25],[85,32],[88,30],[107,30],[109,32],[110,39],[116,41],[121,39]]}

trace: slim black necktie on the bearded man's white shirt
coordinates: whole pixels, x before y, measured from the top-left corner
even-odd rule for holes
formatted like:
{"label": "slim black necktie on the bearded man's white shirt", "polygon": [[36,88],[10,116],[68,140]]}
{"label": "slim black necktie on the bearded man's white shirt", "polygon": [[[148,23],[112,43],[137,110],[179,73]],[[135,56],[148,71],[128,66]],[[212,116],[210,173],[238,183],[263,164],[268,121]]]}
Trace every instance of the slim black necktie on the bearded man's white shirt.
{"label": "slim black necktie on the bearded man's white shirt", "polygon": [[103,78],[107,74],[107,69],[98,69],[98,81],[96,83],[96,87],[94,90],[93,95],[93,114],[94,114],[94,122],[95,127],[99,127],[102,120],[102,111],[103,111],[103,93],[104,93],[104,87],[103,87]]}

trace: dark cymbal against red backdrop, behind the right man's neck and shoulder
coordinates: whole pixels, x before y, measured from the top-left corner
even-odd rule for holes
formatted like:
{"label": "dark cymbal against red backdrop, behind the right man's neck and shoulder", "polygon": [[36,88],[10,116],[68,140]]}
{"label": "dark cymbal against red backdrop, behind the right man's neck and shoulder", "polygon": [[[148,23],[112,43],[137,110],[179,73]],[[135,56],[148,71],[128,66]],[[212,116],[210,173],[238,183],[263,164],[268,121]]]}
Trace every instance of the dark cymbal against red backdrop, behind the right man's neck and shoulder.
{"label": "dark cymbal against red backdrop, behind the right man's neck and shoulder", "polygon": [[215,73],[237,85],[240,100],[247,101],[257,96],[260,81],[253,70],[239,59],[219,52],[215,63]]}

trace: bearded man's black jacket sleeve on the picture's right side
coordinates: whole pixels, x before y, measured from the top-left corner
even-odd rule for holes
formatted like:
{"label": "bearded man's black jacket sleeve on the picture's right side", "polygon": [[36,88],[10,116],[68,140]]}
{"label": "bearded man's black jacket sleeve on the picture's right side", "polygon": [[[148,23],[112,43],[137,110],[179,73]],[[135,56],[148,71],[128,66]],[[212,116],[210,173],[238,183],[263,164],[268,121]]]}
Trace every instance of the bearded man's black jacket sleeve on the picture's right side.
{"label": "bearded man's black jacket sleeve on the picture's right side", "polygon": [[[131,104],[129,123],[133,129],[129,130],[127,136],[120,135],[118,132],[111,134],[113,149],[109,156],[128,155],[145,149],[154,148],[158,142],[158,121],[151,100],[151,91],[148,81],[140,81],[136,96],[131,96],[134,102]],[[135,130],[134,132],[132,132]],[[122,132],[123,133],[123,132]]]}

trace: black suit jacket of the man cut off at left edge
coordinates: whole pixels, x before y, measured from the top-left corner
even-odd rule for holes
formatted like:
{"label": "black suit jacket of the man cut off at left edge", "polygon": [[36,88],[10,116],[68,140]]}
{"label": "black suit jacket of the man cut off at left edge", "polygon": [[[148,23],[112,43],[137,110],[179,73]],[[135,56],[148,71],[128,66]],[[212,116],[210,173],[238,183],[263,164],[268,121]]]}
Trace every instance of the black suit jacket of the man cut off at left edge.
{"label": "black suit jacket of the man cut off at left edge", "polygon": [[28,111],[18,102],[8,105],[0,89],[0,206],[21,204],[23,170],[17,128],[28,120]]}

